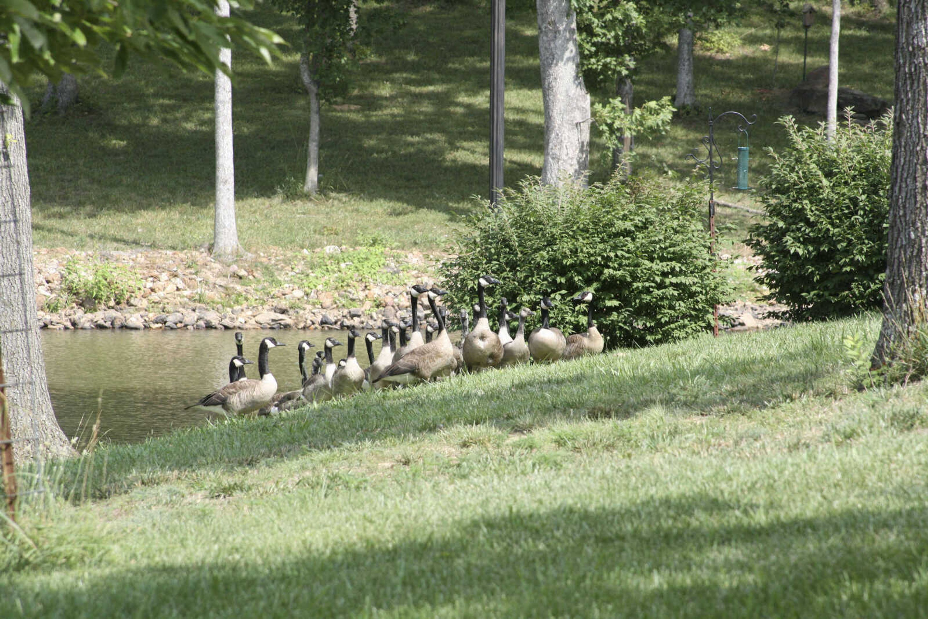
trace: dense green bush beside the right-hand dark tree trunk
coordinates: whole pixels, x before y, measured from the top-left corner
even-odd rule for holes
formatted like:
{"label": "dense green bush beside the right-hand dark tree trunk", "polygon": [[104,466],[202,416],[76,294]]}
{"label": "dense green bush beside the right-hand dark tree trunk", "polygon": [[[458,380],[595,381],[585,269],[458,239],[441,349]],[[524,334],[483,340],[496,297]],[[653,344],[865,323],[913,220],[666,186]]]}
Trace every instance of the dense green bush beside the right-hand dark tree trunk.
{"label": "dense green bush beside the right-hand dark tree trunk", "polygon": [[767,300],[789,306],[793,319],[845,316],[883,301],[893,127],[848,121],[833,142],[824,127],[780,119],[790,146],[764,180],[766,224],[747,244],[761,257],[754,279]]}

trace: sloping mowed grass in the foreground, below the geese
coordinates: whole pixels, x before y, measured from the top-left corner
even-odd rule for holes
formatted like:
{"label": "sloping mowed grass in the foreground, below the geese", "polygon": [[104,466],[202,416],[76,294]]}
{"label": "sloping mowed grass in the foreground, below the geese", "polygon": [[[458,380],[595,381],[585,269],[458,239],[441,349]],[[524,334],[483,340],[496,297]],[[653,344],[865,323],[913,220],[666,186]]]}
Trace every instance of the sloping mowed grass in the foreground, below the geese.
{"label": "sloping mowed grass in the foreground, below the geese", "polygon": [[105,446],[3,538],[6,614],[924,616],[928,390],[857,391],[843,342],[878,327],[700,337]]}

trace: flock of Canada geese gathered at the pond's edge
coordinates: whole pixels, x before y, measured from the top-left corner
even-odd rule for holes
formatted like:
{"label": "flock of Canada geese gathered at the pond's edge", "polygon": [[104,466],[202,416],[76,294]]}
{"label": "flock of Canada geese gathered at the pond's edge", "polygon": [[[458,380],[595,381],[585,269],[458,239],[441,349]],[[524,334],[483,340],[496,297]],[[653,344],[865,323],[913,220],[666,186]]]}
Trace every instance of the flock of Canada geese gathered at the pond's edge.
{"label": "flock of Canada geese gathered at the pond's edge", "polygon": [[[338,363],[333,360],[332,349],[342,346],[333,337],[326,339],[324,350],[312,360],[310,373],[306,370],[306,355],[313,344],[303,340],[298,345],[300,373],[303,387],[296,391],[277,393],[277,380],[267,364],[268,351],[285,345],[273,337],[265,337],[258,348],[260,379],[245,376],[245,366],[252,362],[243,355],[241,332],[235,334],[238,354],[229,362],[229,382],[200,398],[193,408],[221,409],[230,415],[257,413],[268,415],[281,410],[305,406],[309,402],[324,402],[346,397],[369,389],[387,389],[400,385],[444,379],[463,372],[479,372],[487,368],[503,368],[534,361],[550,363],[560,359],[574,359],[582,355],[602,352],[603,340],[593,322],[593,293],[585,290],[572,299],[576,305],[586,304],[586,331],[564,337],[561,329],[548,325],[548,313],[554,306],[548,297],[541,300],[541,327],[533,330],[526,340],[525,319],[535,312],[522,307],[518,315],[509,311],[505,298],[500,300],[498,329],[490,329],[486,316],[485,290],[499,280],[484,275],[477,281],[477,303],[473,306],[476,324],[469,330],[467,310],[461,310],[461,340],[451,342],[445,324],[445,307],[438,299],[446,294],[432,286],[422,284],[411,287],[412,332],[406,336],[406,325],[383,321],[380,333],[373,331],[363,336],[367,347],[368,368],[361,368],[354,350],[354,342],[362,335],[357,329],[348,331],[348,356]],[[423,338],[419,329],[419,298],[425,295],[435,323],[426,323]],[[515,336],[509,334],[509,320],[519,319]],[[373,343],[382,340],[380,354],[374,356]]]}

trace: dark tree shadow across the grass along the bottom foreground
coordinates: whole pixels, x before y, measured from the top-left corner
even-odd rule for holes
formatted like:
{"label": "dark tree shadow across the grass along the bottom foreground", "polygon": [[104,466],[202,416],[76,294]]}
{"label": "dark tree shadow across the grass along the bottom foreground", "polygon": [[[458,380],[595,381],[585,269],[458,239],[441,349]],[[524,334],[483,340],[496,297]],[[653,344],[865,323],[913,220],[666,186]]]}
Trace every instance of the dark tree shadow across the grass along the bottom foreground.
{"label": "dark tree shadow across the grass along the bottom foreground", "polygon": [[318,542],[294,530],[289,548],[256,559],[227,548],[217,561],[27,581],[18,596],[49,617],[922,616],[923,505],[765,518],[714,492],[510,510],[343,549],[306,551]]}

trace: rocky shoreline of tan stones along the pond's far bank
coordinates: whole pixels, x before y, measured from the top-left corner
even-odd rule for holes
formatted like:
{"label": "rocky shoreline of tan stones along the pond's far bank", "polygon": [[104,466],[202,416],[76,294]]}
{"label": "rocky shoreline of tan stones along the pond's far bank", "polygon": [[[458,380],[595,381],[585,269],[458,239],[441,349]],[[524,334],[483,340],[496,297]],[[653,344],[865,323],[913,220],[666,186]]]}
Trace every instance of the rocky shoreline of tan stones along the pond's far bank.
{"label": "rocky shoreline of tan stones along the pond's far bank", "polygon": [[[317,252],[351,255],[350,248],[329,246]],[[301,286],[314,252],[305,261],[289,252],[261,252],[224,264],[206,251],[34,252],[36,306],[42,329],[378,329],[383,319],[411,316],[408,285],[432,281],[441,260],[418,251],[384,250],[384,281],[354,282],[351,290]],[[71,264],[118,264],[134,276],[133,296],[125,303],[98,308],[88,300],[65,306],[62,275]],[[351,264],[351,263],[346,263]],[[311,273],[310,273],[311,274]],[[719,308],[731,331],[767,329],[783,322],[767,316],[782,307],[736,302]]]}

